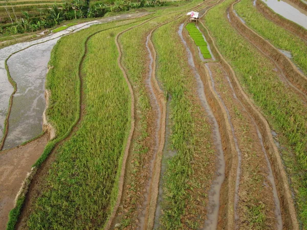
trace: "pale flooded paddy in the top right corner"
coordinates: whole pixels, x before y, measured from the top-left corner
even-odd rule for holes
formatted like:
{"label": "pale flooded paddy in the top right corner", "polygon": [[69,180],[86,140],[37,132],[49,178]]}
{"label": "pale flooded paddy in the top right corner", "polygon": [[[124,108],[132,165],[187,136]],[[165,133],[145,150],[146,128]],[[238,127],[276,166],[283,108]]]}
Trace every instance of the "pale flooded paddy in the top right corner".
{"label": "pale flooded paddy in the top right corner", "polygon": [[294,21],[296,24],[307,29],[307,12],[301,10],[298,6],[290,5],[286,1],[261,0],[277,14]]}

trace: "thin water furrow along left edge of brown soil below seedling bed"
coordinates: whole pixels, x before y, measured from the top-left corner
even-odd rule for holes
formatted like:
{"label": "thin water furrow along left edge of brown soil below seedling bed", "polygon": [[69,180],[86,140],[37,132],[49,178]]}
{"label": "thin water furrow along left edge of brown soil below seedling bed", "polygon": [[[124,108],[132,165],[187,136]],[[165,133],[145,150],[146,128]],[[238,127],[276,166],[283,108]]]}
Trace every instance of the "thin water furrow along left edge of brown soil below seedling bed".
{"label": "thin water furrow along left edge of brown soil below seedling bed", "polygon": [[236,208],[237,208],[237,204],[238,204],[238,201],[239,201],[239,193],[238,193],[238,191],[239,191],[239,182],[240,182],[239,180],[240,180],[240,174],[241,174],[242,153],[241,153],[241,150],[239,149],[238,141],[237,141],[237,138],[236,138],[235,133],[234,133],[234,128],[233,128],[233,125],[231,123],[231,118],[230,118],[229,111],[228,111],[228,109],[227,109],[227,107],[226,107],[226,105],[225,105],[221,95],[218,94],[216,89],[215,89],[215,84],[214,84],[214,80],[213,80],[213,77],[212,77],[212,72],[210,70],[209,64],[206,64],[206,67],[207,67],[209,75],[210,75],[210,79],[211,79],[213,90],[214,90],[215,94],[217,95],[217,97],[220,98],[220,100],[221,100],[221,102],[223,104],[223,107],[226,110],[227,119],[228,119],[228,121],[230,123],[231,132],[232,132],[232,135],[233,135],[235,149],[236,149],[237,154],[238,154],[238,167],[237,167],[237,171],[236,171],[235,195],[234,195],[234,218],[235,218],[235,220],[238,220],[238,215],[237,215],[237,212],[236,212]]}

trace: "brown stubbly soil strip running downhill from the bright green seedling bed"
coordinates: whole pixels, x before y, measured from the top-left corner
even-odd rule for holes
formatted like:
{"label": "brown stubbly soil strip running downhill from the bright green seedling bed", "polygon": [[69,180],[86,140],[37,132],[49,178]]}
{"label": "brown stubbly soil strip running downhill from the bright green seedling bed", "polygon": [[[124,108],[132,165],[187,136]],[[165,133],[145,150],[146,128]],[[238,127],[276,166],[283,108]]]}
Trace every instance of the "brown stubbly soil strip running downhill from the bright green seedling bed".
{"label": "brown stubbly soil strip running downhill from the bright green seedling bed", "polygon": [[[258,224],[253,221],[261,220],[262,227],[281,229],[279,198],[277,192],[275,194],[272,192],[276,191],[275,181],[274,178],[273,181],[269,179],[272,171],[268,166],[266,152],[262,149],[262,140],[260,141],[258,137],[255,123],[238,101],[229,78],[220,64],[212,63],[206,66],[211,71],[213,87],[228,111],[234,135],[237,137],[237,144],[242,153],[236,225],[238,229],[247,229]],[[254,210],[258,210],[259,213],[254,214]],[[260,219],[261,215],[266,218]]]}

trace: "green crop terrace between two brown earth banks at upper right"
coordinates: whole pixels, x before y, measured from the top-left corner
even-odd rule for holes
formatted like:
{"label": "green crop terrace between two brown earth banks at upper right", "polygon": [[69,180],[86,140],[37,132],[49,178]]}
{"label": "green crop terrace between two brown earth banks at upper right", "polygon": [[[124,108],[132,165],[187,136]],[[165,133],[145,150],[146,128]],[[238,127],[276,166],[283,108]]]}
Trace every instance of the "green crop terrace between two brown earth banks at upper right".
{"label": "green crop terrace between two brown earth banks at upper right", "polygon": [[234,5],[234,9],[247,26],[268,39],[276,48],[290,51],[292,61],[307,75],[307,45],[303,40],[265,18],[253,7],[251,0],[241,0]]}

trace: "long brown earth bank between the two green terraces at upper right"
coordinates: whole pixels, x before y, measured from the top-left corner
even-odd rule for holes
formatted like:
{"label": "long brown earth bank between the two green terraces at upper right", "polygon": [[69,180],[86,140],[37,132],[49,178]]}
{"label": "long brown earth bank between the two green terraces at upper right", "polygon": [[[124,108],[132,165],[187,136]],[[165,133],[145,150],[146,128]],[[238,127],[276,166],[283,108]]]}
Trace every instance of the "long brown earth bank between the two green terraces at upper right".
{"label": "long brown earth bank between the two green terraces at upper right", "polygon": [[[291,83],[288,84],[294,89],[294,92],[298,94],[303,100],[307,99],[307,78],[306,76],[298,70],[294,63],[277,48],[274,47],[265,38],[258,35],[256,32],[251,30],[248,26],[244,24],[234,13],[233,6],[238,3],[234,2],[229,9],[230,22],[234,28],[244,36],[250,43],[252,43],[259,51],[270,58],[277,69],[280,70],[280,74],[285,76]],[[287,81],[286,79],[286,81]],[[293,85],[292,85],[293,84]]]}

